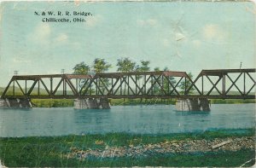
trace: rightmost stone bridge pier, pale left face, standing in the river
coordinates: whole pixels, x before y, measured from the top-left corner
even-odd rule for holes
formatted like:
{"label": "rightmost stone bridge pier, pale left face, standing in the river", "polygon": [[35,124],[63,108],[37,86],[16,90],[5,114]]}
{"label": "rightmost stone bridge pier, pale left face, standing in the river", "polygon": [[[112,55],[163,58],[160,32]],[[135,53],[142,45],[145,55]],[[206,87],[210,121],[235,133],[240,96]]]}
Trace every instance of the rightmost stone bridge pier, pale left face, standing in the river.
{"label": "rightmost stone bridge pier, pale left face, standing in the river", "polygon": [[204,111],[209,112],[210,101],[206,98],[177,99],[177,111]]}

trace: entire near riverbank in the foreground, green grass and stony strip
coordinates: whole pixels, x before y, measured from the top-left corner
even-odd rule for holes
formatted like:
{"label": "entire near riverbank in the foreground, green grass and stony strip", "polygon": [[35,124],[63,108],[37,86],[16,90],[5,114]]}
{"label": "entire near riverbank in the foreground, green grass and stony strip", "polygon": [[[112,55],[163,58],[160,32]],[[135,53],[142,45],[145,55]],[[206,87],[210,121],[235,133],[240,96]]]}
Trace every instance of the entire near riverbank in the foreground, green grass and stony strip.
{"label": "entire near riverbank in the foreground, green grass and stony strip", "polygon": [[139,135],[0,138],[0,159],[14,166],[254,165],[255,130]]}

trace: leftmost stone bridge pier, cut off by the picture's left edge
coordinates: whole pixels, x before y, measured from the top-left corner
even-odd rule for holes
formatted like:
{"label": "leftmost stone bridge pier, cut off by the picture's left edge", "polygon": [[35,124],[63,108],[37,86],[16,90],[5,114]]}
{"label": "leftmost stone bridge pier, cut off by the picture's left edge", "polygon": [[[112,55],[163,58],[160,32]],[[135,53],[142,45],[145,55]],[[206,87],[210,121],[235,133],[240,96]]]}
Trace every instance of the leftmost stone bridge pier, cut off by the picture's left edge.
{"label": "leftmost stone bridge pier, cut off by the picture's left edge", "polygon": [[30,108],[32,107],[32,103],[26,98],[0,99],[0,107]]}

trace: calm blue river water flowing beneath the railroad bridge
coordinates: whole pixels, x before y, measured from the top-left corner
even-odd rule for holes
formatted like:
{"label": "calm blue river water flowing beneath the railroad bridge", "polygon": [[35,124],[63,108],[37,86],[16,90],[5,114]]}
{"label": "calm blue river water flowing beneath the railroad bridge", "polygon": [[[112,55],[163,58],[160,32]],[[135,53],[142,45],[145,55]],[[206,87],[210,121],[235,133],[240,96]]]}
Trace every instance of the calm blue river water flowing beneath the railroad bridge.
{"label": "calm blue river water flowing beneath the railroad bridge", "polygon": [[255,104],[212,105],[212,111],[177,112],[172,105],[109,110],[0,108],[0,136],[62,136],[86,133],[173,133],[255,127]]}

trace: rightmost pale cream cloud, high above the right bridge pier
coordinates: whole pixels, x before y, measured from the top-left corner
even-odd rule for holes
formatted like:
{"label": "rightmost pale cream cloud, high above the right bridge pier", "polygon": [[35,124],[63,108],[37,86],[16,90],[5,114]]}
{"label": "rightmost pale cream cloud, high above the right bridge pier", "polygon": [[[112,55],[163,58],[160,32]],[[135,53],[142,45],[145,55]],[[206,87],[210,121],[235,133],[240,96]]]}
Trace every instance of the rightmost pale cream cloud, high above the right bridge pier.
{"label": "rightmost pale cream cloud, high above the right bridge pier", "polygon": [[202,33],[206,40],[224,40],[224,30],[216,24],[207,24],[203,27]]}

